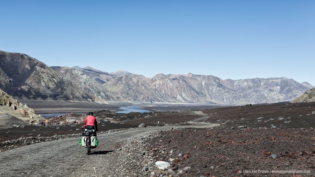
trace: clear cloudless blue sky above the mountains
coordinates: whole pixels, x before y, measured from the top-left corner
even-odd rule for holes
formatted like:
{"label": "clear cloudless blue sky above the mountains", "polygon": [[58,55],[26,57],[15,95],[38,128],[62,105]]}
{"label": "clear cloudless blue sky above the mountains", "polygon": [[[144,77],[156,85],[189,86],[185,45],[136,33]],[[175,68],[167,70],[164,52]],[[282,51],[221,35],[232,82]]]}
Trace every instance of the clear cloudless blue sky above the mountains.
{"label": "clear cloudless blue sky above the mountains", "polygon": [[315,1],[2,1],[0,50],[152,77],[288,77],[315,86]]}

